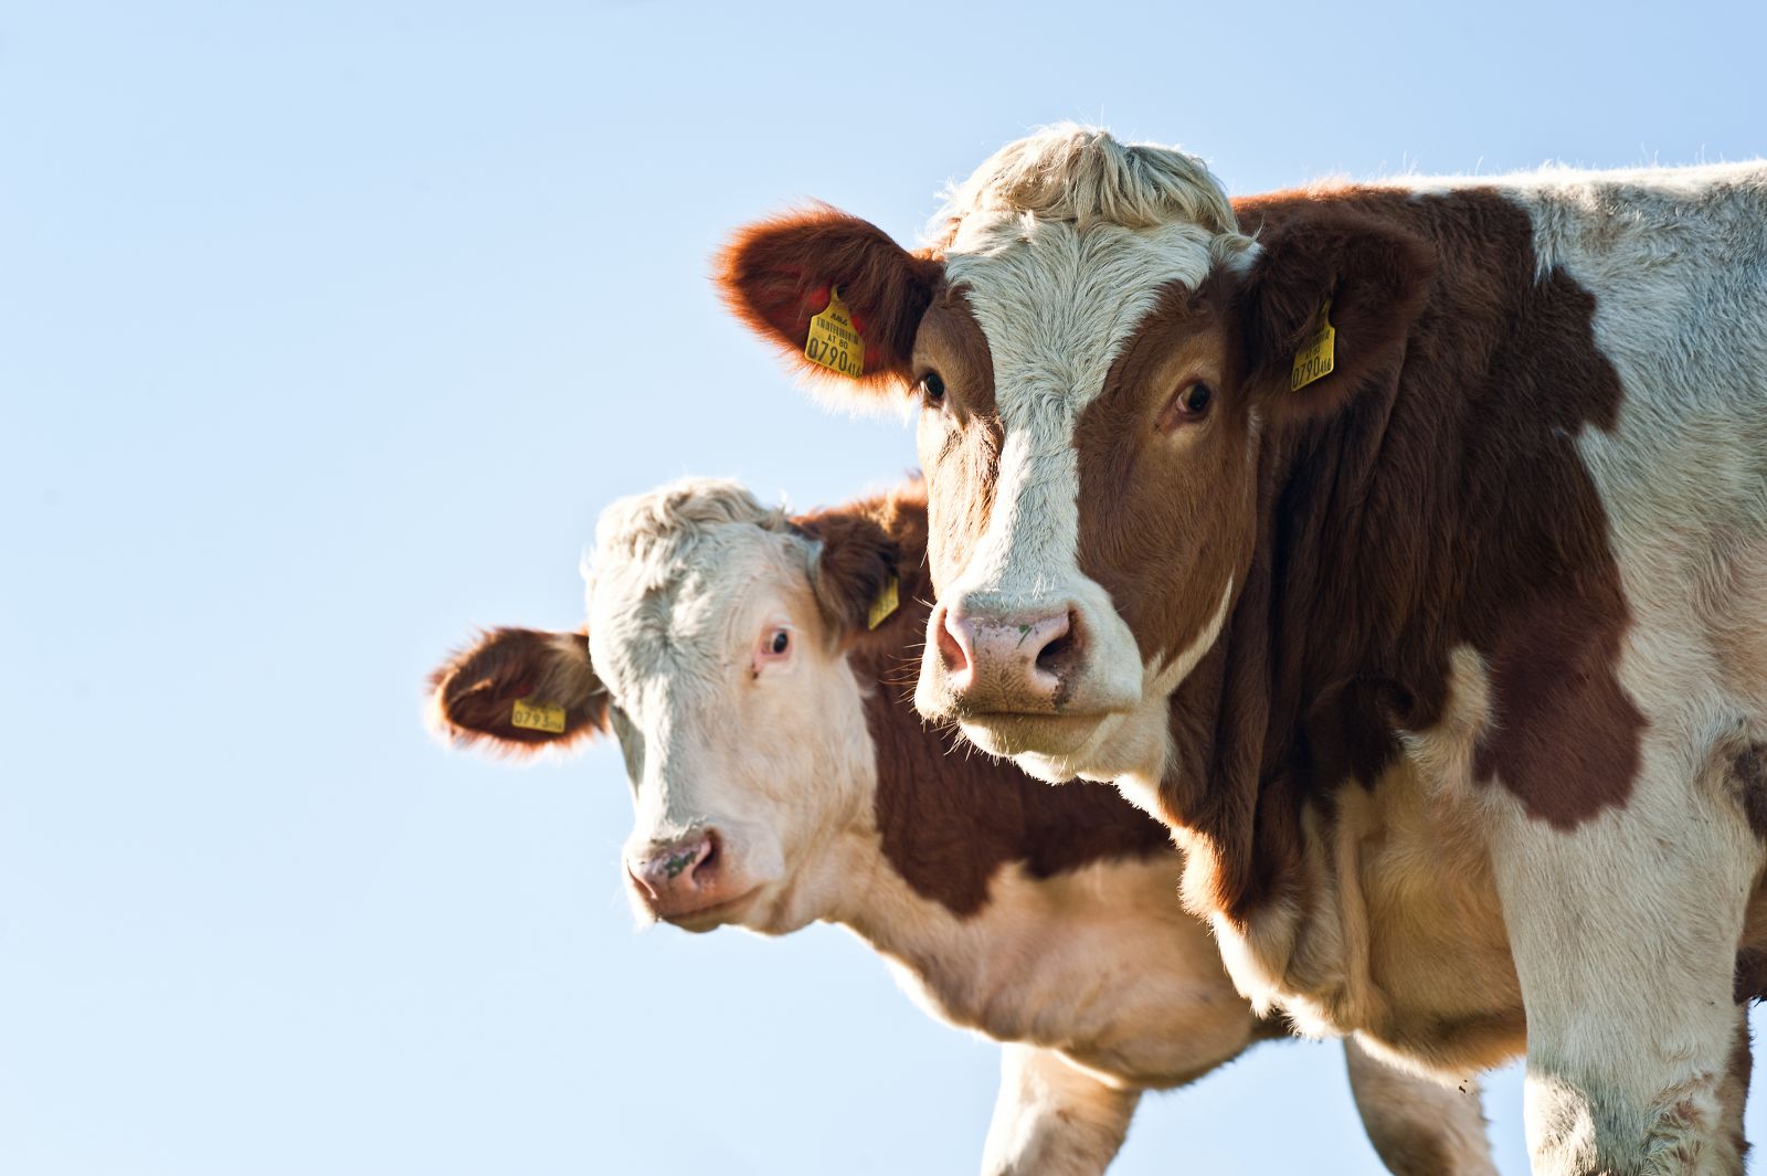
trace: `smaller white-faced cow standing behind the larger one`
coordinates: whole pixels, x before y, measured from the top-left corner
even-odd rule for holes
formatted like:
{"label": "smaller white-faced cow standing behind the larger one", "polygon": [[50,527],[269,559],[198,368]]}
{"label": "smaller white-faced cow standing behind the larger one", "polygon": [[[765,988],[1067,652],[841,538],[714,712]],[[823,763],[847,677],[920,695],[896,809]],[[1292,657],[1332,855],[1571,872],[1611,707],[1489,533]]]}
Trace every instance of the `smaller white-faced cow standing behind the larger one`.
{"label": "smaller white-faced cow standing behind the larger one", "polygon": [[[1173,901],[1159,823],[921,726],[903,696],[924,549],[917,486],[800,519],[728,482],[641,494],[603,516],[588,636],[495,630],[436,671],[435,708],[458,740],[507,749],[611,724],[641,918],[845,923],[926,1008],[1004,1042],[986,1172],[1101,1172],[1143,1089],[1281,1028]],[[1355,1047],[1348,1063],[1394,1172],[1495,1172],[1475,1091]]]}

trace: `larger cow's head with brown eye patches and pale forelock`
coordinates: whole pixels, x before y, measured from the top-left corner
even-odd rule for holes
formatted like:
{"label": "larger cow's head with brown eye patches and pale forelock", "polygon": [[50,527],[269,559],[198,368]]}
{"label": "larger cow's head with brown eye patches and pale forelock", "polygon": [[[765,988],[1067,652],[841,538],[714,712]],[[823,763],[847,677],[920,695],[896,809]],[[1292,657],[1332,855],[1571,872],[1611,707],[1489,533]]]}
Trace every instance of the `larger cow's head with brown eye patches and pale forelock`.
{"label": "larger cow's head with brown eye patches and pale forelock", "polygon": [[[815,210],[719,261],[793,355],[838,291],[864,358],[830,385],[919,403],[938,607],[915,703],[1046,779],[1163,761],[1166,697],[1246,583],[1269,440],[1399,360],[1428,275],[1354,212],[1253,238],[1198,159],[1080,127],[986,161],[919,253]],[[1302,381],[1327,323],[1334,366]]]}

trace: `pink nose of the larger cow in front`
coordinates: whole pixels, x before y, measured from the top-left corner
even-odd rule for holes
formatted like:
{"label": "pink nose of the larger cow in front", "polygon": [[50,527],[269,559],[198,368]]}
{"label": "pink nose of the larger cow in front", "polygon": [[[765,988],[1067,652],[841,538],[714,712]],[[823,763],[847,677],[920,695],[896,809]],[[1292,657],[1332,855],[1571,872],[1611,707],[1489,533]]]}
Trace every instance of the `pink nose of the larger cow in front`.
{"label": "pink nose of the larger cow in front", "polygon": [[945,609],[938,652],[959,694],[986,683],[990,696],[1048,699],[1080,652],[1073,606],[991,613],[963,604]]}

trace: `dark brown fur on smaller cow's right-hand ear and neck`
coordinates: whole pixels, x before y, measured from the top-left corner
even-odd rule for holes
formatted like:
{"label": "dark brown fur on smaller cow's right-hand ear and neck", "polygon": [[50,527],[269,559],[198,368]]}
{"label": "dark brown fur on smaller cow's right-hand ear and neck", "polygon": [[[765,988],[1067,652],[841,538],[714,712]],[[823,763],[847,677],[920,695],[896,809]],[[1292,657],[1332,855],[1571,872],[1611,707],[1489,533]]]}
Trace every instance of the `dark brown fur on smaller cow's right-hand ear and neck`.
{"label": "dark brown fur on smaller cow's right-hand ear and neck", "polygon": [[[1177,886],[1177,855],[1166,828],[1117,789],[1051,788],[979,754],[954,731],[942,735],[921,722],[910,696],[933,595],[922,484],[800,524],[827,537],[830,551],[841,540],[875,544],[878,560],[894,551],[901,607],[875,630],[859,623],[848,662],[868,690],[884,856],[915,893],[967,916],[986,906],[990,881],[1012,862],[1032,878],[1050,878],[1094,862],[1156,855],[1172,855]],[[868,556],[846,554],[843,562],[866,563]],[[855,614],[869,607],[871,597],[862,593],[855,588],[848,602]]]}

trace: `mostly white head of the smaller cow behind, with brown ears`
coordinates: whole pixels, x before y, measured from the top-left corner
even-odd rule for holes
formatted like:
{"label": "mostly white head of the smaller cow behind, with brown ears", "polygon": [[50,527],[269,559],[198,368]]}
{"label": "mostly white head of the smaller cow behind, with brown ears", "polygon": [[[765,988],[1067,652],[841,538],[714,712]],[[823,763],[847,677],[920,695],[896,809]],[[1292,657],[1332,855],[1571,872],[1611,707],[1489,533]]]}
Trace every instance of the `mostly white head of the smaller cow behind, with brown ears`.
{"label": "mostly white head of the smaller cow behind, with brown ears", "polygon": [[486,634],[433,675],[438,726],[511,750],[611,727],[641,918],[777,934],[827,915],[848,885],[830,846],[873,823],[876,779],[845,648],[894,560],[876,524],[827,530],[728,482],[611,505],[587,636]]}

